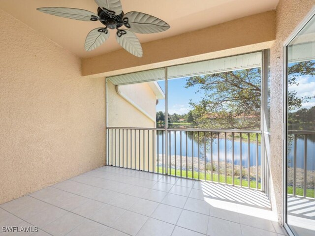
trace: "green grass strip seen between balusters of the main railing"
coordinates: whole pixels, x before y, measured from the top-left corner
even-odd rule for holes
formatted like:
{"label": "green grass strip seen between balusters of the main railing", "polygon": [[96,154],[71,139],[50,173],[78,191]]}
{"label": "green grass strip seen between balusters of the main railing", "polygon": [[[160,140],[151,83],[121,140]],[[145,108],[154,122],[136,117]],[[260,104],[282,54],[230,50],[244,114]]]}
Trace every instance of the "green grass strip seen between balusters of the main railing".
{"label": "green grass strip seen between balusters of the main railing", "polygon": [[[159,167],[158,171],[159,171],[159,173],[162,173],[162,167]],[[175,169],[171,169],[171,176],[175,176]],[[176,176],[178,176],[178,177],[181,176],[181,171],[180,170],[177,170]],[[192,171],[188,171],[187,172],[187,176],[188,176],[188,178],[192,178]],[[198,173],[194,172],[193,176],[194,176],[195,179],[198,179]],[[182,177],[186,177],[186,170],[182,171]],[[201,173],[200,172],[200,179],[201,180],[205,179],[205,173]],[[211,181],[211,174],[207,173],[206,180],[210,180]],[[212,181],[218,182],[218,174],[213,173]],[[221,183],[225,183],[224,175],[220,175],[220,182]],[[226,183],[227,184],[232,184],[232,177],[231,176],[227,176],[226,177]],[[234,177],[234,185],[240,186],[240,179]],[[248,180],[243,179],[242,180],[242,186],[243,187],[248,187]],[[256,188],[256,181],[251,181],[251,188]],[[260,188],[261,188],[260,183],[258,183],[258,189],[260,189]]]}

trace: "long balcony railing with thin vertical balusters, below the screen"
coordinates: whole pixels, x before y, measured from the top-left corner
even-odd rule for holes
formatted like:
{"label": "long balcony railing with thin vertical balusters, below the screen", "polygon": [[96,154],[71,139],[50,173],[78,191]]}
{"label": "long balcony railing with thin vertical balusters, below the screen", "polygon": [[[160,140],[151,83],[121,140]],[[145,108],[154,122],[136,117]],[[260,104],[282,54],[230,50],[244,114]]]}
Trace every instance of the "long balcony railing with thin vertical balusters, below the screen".
{"label": "long balcony railing with thin vertical balusters, below the screen", "polygon": [[[107,165],[261,189],[261,131],[107,127]],[[167,144],[166,144],[167,140]]]}

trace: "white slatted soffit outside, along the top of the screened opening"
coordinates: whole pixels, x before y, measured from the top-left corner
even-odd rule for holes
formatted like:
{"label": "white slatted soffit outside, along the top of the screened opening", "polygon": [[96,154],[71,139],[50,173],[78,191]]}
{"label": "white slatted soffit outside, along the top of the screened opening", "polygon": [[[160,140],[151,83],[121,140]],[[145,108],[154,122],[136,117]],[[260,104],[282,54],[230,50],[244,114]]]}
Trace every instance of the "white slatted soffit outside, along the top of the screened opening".
{"label": "white slatted soffit outside, along the top of the screened opening", "polygon": [[[167,78],[182,78],[195,75],[215,74],[227,71],[261,67],[262,53],[250,53],[228,58],[199,61],[189,64],[176,65],[167,68]],[[149,81],[164,80],[164,68],[141,71],[125,75],[109,77],[114,85],[126,85]]]}

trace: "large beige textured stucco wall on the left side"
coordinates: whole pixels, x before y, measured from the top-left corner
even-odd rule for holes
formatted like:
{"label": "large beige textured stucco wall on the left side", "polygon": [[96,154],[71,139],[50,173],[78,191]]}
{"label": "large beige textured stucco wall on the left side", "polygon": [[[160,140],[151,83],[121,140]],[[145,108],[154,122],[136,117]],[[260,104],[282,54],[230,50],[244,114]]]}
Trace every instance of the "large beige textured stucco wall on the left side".
{"label": "large beige textured stucco wall on the left side", "polygon": [[0,10],[0,204],[105,164],[105,79]]}

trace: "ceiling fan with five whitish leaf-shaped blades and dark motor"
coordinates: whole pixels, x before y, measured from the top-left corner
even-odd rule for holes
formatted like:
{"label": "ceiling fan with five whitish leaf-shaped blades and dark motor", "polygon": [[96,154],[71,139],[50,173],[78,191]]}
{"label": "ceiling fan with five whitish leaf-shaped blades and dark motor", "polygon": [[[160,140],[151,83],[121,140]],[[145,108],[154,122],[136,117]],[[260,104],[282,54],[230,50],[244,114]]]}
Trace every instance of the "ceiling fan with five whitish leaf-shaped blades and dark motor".
{"label": "ceiling fan with five whitish leaf-shaped blades and dark motor", "polygon": [[[100,21],[105,27],[96,28],[90,31],[85,40],[85,50],[92,51],[109,38],[108,29],[117,29],[117,42],[132,55],[141,58],[142,47],[136,33],[157,33],[170,28],[170,26],[157,17],[137,12],[123,12],[120,0],[95,0],[98,5],[97,14],[76,8],[66,7],[41,7],[37,10],[70,18],[79,21]],[[127,29],[120,29],[125,26]]]}

